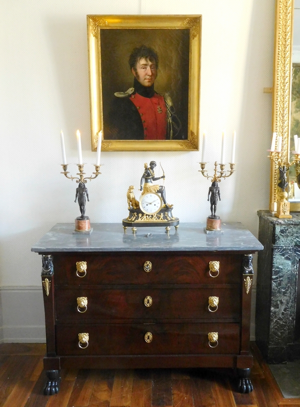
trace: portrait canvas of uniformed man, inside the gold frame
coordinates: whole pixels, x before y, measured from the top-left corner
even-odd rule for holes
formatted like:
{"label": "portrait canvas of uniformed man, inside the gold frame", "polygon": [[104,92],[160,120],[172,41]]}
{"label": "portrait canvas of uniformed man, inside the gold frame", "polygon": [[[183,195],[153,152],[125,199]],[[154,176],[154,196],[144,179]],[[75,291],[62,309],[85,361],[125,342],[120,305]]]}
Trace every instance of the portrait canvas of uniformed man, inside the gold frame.
{"label": "portrait canvas of uniformed man, inside the gold frame", "polygon": [[188,51],[187,29],[101,32],[104,140],[187,138]]}

